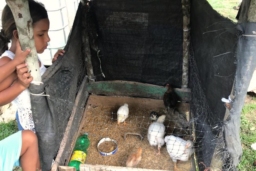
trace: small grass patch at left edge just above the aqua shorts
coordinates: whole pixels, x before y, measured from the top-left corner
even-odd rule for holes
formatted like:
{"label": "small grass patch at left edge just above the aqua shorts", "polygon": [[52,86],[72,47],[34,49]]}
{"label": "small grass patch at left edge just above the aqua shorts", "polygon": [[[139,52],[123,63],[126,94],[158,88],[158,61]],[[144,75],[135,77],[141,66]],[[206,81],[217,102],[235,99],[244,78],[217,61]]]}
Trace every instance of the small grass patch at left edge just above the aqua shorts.
{"label": "small grass patch at left edge just above the aqua shorts", "polygon": [[0,141],[18,131],[17,121],[0,123]]}

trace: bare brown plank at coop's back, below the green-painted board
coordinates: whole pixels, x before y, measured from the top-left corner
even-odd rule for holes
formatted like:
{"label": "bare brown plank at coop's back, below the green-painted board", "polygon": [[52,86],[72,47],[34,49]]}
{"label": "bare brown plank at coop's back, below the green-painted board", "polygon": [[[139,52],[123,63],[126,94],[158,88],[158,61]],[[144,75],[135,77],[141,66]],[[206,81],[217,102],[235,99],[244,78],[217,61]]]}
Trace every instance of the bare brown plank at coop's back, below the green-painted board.
{"label": "bare brown plank at coop's back, below the green-painted board", "polygon": [[[128,103],[129,107],[138,108],[162,108],[164,109],[163,100],[138,98],[138,97],[113,97],[113,96],[100,96],[90,95],[87,105],[92,106],[122,106]],[[178,103],[177,111],[188,113],[189,103]]]}

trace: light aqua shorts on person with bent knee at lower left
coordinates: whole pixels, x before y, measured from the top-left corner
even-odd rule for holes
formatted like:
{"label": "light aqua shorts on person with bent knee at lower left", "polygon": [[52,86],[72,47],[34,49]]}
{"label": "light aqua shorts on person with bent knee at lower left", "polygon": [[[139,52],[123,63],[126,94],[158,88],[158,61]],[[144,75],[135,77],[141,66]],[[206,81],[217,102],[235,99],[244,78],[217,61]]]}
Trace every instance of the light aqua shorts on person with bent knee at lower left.
{"label": "light aqua shorts on person with bent knee at lower left", "polygon": [[21,132],[18,131],[0,141],[0,171],[12,171],[14,166],[20,166]]}

